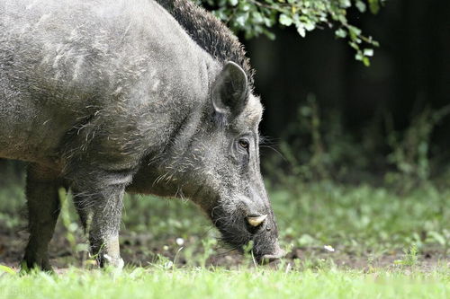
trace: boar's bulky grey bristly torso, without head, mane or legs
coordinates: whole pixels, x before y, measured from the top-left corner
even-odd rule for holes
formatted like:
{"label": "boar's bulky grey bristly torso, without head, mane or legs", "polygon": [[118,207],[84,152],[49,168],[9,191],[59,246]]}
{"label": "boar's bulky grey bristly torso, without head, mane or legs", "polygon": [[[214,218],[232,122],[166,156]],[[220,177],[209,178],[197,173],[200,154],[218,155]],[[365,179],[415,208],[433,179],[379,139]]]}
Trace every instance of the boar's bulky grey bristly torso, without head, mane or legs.
{"label": "boar's bulky grey bristly torso, without head, mane or legs", "polygon": [[67,133],[86,145],[97,130],[109,139],[95,145],[99,156],[113,150],[133,166],[161,152],[219,71],[151,1],[6,1],[2,9],[3,157],[53,167],[75,149]]}

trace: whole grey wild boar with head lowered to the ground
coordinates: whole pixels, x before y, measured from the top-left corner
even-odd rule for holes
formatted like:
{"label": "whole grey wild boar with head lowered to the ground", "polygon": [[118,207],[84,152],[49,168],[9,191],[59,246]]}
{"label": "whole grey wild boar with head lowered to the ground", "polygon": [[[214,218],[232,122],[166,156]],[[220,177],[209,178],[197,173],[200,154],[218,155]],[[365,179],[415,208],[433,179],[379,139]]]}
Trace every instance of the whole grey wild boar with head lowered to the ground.
{"label": "whole grey wild boar with head lowered to the ground", "polygon": [[125,189],[191,198],[233,247],[281,254],[243,49],[189,1],[160,4],[0,0],[0,157],[30,163],[24,267],[50,268],[60,188],[101,265],[123,263]]}

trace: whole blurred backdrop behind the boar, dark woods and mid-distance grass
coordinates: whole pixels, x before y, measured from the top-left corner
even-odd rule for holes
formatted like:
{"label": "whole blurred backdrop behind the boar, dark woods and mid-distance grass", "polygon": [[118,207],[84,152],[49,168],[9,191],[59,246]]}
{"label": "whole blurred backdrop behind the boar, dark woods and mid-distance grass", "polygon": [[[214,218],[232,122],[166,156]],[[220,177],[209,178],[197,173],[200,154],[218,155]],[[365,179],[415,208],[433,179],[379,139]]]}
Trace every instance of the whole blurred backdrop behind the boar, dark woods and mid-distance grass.
{"label": "whole blurred backdrop behind the boar, dark woods and mid-distance grass", "polygon": [[[347,9],[380,42],[370,67],[327,25],[305,38],[276,25],[275,40],[239,33],[266,107],[262,171],[295,267],[448,262],[450,2],[383,3],[376,14]],[[24,167],[0,160],[0,263],[16,264],[27,239]],[[70,195],[61,200],[52,263],[86,265]],[[240,263],[188,202],[128,196],[121,236],[128,263]]]}

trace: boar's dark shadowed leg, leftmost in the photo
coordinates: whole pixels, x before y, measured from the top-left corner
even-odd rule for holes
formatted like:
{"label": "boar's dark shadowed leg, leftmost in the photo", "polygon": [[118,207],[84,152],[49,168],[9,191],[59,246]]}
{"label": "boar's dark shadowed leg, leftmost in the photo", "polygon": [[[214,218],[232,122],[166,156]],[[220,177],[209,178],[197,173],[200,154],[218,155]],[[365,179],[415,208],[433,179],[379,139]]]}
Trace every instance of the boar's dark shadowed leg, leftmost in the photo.
{"label": "boar's dark shadowed leg, leftmost in the photo", "polygon": [[25,249],[23,268],[51,270],[49,242],[59,215],[58,189],[63,187],[58,172],[38,164],[27,170],[26,198],[30,240]]}

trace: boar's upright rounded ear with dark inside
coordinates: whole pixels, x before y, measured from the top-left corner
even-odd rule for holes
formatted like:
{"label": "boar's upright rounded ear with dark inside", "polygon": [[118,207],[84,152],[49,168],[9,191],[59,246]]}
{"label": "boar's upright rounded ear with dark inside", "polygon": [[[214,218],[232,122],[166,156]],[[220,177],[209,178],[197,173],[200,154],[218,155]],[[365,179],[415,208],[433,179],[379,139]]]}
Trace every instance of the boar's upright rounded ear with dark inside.
{"label": "boar's upright rounded ear with dark inside", "polygon": [[212,106],[219,114],[237,117],[247,105],[247,75],[228,61],[212,85]]}

